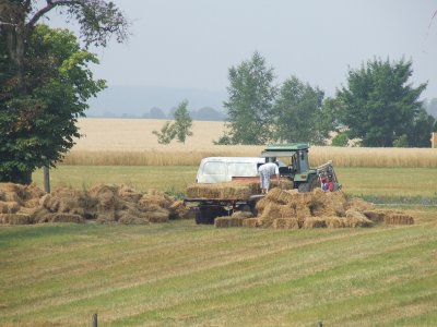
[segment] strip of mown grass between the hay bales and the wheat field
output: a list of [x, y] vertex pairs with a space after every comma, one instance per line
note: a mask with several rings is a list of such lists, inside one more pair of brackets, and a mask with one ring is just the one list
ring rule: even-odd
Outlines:
[[[50, 170], [51, 187], [90, 189], [102, 183], [127, 184], [139, 191], [184, 193], [196, 182], [194, 166], [59, 166]], [[346, 194], [357, 196], [437, 197], [435, 168], [336, 168]], [[43, 187], [43, 173], [33, 179]]]

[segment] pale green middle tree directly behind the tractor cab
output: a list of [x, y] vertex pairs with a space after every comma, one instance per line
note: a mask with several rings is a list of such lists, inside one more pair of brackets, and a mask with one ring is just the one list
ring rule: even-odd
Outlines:
[[332, 119], [322, 109], [324, 93], [296, 76], [286, 80], [274, 105], [275, 138], [281, 142], [323, 144]]

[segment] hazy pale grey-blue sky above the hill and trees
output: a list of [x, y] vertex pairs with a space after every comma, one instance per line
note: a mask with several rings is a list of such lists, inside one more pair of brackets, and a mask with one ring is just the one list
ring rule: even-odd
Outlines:
[[291, 75], [332, 96], [349, 68], [413, 61], [411, 82], [437, 98], [437, 1], [113, 0], [133, 22], [127, 45], [94, 49], [110, 85], [225, 92], [232, 65], [259, 51], [276, 83]]

